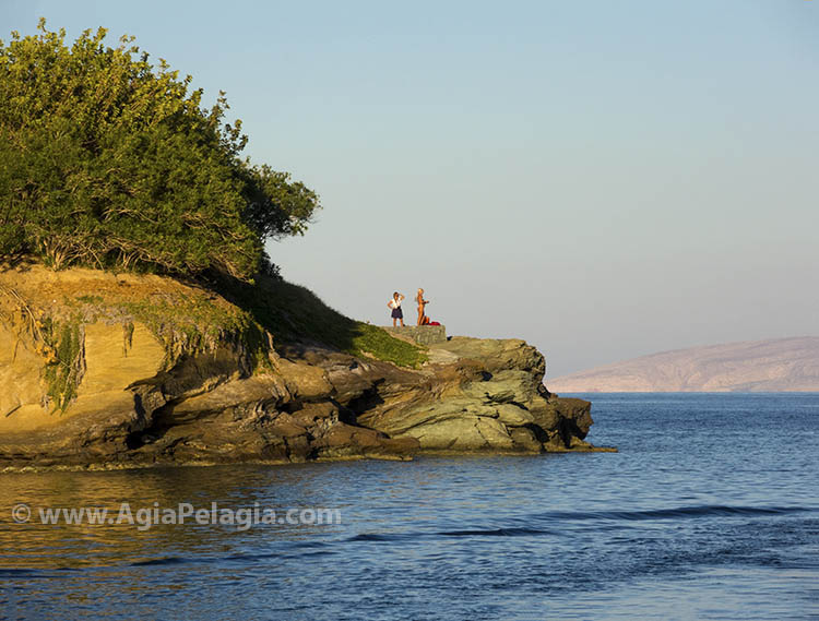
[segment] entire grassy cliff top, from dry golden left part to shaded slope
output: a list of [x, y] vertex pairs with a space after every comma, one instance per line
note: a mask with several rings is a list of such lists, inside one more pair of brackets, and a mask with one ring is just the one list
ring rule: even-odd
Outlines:
[[198, 283], [81, 270], [59, 278], [51, 274], [32, 264], [15, 274], [15, 289], [58, 323], [105, 318], [126, 327], [133, 321], [146, 324], [165, 345], [166, 367], [186, 353], [238, 345], [247, 368], [254, 369], [268, 360], [265, 331], [274, 348], [312, 342], [401, 367], [427, 360], [425, 347], [344, 317], [309, 289], [270, 276], [250, 284], [213, 274]]

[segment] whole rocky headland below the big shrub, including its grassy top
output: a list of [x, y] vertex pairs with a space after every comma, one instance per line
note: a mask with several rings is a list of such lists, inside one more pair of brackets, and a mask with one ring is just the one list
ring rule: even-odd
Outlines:
[[590, 404], [522, 341], [416, 348], [284, 283], [247, 292], [4, 268], [0, 468], [594, 450]]

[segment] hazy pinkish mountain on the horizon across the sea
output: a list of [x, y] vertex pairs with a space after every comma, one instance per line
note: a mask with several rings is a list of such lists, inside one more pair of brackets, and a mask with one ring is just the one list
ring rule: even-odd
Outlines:
[[555, 393], [819, 391], [819, 337], [663, 351], [547, 379], [546, 385]]

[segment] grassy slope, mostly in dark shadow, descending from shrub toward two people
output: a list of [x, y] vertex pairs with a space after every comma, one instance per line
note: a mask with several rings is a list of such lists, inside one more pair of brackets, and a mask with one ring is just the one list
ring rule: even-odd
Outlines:
[[273, 334], [276, 344], [313, 341], [356, 357], [371, 356], [400, 367], [417, 368], [427, 360], [425, 348], [341, 314], [306, 287], [261, 277], [252, 286], [232, 283], [221, 292], [250, 312]]

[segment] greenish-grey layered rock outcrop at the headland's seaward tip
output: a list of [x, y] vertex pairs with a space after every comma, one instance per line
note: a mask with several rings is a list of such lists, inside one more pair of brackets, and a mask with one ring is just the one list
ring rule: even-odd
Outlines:
[[549, 394], [545, 367], [523, 341], [453, 337], [430, 346], [426, 382], [376, 386], [357, 420], [424, 451], [590, 450], [591, 404]]

